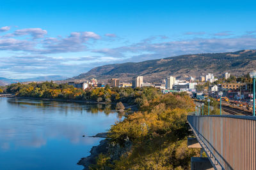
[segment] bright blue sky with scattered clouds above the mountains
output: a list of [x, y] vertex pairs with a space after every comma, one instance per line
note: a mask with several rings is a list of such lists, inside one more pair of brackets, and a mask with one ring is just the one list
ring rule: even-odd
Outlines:
[[1, 1], [0, 77], [256, 49], [256, 1]]

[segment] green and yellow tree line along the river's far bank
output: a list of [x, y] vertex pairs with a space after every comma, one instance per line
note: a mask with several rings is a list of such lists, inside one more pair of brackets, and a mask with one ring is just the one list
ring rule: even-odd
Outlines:
[[152, 96], [160, 94], [160, 90], [152, 87], [143, 89], [131, 87], [106, 87], [88, 88], [86, 90], [74, 88], [68, 84], [44, 83], [13, 83], [6, 88], [6, 92], [16, 94], [19, 97], [35, 97], [47, 99], [72, 99], [83, 101], [95, 101], [104, 103], [142, 104]]

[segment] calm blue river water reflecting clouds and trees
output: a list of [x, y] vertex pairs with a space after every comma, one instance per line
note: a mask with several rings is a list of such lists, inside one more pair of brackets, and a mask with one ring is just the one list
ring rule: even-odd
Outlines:
[[118, 120], [111, 107], [0, 97], [0, 169], [83, 169], [89, 155]]

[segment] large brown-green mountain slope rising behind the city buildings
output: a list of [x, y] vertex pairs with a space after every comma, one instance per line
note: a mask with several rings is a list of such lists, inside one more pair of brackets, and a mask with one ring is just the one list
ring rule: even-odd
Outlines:
[[87, 73], [79, 74], [72, 80], [89, 80], [97, 78], [106, 82], [109, 78], [119, 78], [120, 81], [131, 81], [133, 76], [144, 76], [145, 81], [160, 81], [172, 75], [178, 78], [200, 76], [214, 73], [222, 76], [228, 72], [239, 76], [256, 68], [256, 50], [241, 50], [225, 53], [198, 53], [179, 55], [164, 59], [146, 60], [143, 62], [126, 62], [95, 67]]

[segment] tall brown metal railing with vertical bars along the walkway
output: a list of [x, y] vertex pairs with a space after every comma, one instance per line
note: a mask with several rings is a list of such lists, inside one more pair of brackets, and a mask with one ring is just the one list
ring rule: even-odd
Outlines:
[[198, 141], [216, 169], [256, 169], [256, 118], [188, 116]]

